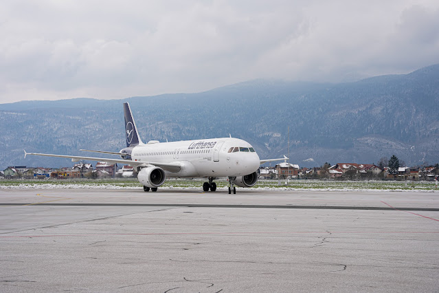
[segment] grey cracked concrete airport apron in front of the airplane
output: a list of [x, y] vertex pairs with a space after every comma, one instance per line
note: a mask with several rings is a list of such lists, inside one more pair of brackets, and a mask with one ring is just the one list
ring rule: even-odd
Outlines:
[[439, 193], [0, 190], [0, 292], [438, 292]]

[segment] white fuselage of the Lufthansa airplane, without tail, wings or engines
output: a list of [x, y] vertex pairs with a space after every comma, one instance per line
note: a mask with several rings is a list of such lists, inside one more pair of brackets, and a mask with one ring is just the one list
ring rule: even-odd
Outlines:
[[181, 169], [167, 177], [235, 177], [254, 173], [260, 158], [253, 147], [238, 138], [210, 138], [180, 142], [149, 142], [135, 146], [133, 161], [178, 163]]

